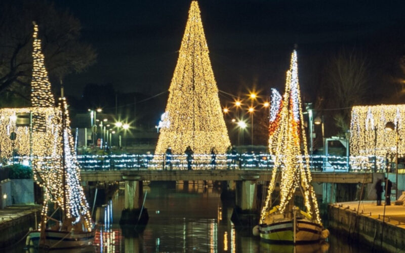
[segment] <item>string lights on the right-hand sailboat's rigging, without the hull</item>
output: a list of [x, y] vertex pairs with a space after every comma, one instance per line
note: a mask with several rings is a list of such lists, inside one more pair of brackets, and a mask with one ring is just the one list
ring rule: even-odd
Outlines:
[[[304, 195], [306, 212], [316, 223], [321, 224], [315, 192], [311, 185], [312, 178], [302, 118], [297, 52], [294, 50], [291, 55], [290, 69], [287, 71], [285, 94], [275, 119], [279, 120], [278, 127], [272, 130], [274, 136], [269, 142], [269, 150], [274, 159], [274, 168], [281, 171], [278, 212], [285, 214], [290, 199], [294, 197], [296, 189], [300, 187]], [[303, 142], [303, 151], [301, 150], [301, 142]], [[277, 169], [272, 170], [260, 223], [264, 222], [271, 207], [271, 194], [275, 188]]]

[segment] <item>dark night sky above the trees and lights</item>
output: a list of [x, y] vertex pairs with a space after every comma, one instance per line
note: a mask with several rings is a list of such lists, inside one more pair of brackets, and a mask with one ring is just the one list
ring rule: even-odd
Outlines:
[[[151, 96], [169, 89], [190, 1], [55, 2], [82, 22], [82, 39], [98, 53], [86, 72], [66, 77], [68, 94], [80, 96], [87, 83]], [[398, 64], [386, 59], [405, 53], [405, 5], [352, 2], [199, 1], [218, 88], [232, 94], [253, 86], [263, 93], [282, 89], [294, 44], [310, 99], [322, 85], [321, 68], [342, 47], [366, 55], [371, 68], [396, 73]], [[374, 93], [382, 81], [373, 78]]]

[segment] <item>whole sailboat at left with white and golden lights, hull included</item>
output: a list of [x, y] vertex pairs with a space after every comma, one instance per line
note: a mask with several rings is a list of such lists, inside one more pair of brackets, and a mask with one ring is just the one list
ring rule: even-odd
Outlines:
[[[80, 185], [79, 168], [72, 145], [73, 139], [64, 97], [60, 99], [58, 111], [61, 124], [56, 131], [56, 140], [60, 145], [57, 145], [56, 149], [59, 152], [56, 152], [57, 155], [49, 163], [50, 169], [47, 172], [36, 171], [39, 182], [45, 189], [45, 201], [41, 213], [41, 224], [37, 230], [31, 231], [26, 239], [27, 246], [56, 250], [92, 245], [96, 232]], [[61, 185], [58, 186], [58, 182]], [[52, 215], [48, 216], [50, 202], [57, 206], [53, 214], [58, 209], [61, 210], [61, 220], [52, 218]], [[53, 225], [49, 224], [51, 221]]]

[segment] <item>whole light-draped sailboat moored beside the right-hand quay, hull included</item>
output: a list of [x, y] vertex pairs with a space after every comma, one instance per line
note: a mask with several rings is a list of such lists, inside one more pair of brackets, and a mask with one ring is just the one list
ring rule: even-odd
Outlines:
[[[314, 243], [329, 236], [329, 231], [321, 223], [311, 185], [302, 118], [297, 52], [294, 50], [284, 96], [275, 89], [271, 95], [269, 150], [274, 169], [259, 225], [254, 228], [254, 234], [258, 233], [265, 242]], [[273, 205], [272, 193], [277, 180], [280, 180], [279, 204]], [[304, 209], [294, 205], [297, 191], [302, 194]]]

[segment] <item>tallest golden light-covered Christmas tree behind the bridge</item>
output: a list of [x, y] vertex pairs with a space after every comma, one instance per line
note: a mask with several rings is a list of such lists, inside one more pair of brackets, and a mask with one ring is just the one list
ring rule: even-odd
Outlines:
[[188, 12], [162, 121], [155, 154], [168, 147], [183, 154], [187, 146], [195, 154], [208, 154], [213, 147], [225, 153], [230, 145], [196, 1]]

